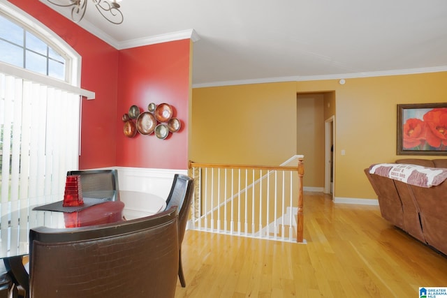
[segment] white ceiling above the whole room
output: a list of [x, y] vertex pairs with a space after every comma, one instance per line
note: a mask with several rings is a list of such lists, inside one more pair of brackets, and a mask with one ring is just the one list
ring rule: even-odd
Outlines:
[[122, 24], [105, 22], [89, 1], [80, 26], [118, 49], [195, 32], [195, 87], [447, 70], [446, 0], [120, 4]]

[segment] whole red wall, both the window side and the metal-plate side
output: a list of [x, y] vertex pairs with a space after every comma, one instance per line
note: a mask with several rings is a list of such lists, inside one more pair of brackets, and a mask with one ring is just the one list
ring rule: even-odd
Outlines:
[[[94, 91], [96, 98], [82, 100], [80, 169], [187, 168], [189, 40], [120, 52], [38, 0], [10, 3], [57, 33], [82, 57], [81, 87]], [[124, 137], [122, 114], [129, 104], [147, 109], [149, 101], [172, 104], [182, 131], [168, 140]]]

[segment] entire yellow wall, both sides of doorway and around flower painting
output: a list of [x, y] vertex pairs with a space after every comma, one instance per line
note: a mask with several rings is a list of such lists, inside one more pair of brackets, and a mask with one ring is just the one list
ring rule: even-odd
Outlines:
[[[190, 157], [278, 165], [300, 154], [297, 94], [335, 91], [335, 197], [376, 198], [365, 167], [397, 158], [432, 158], [397, 156], [397, 104], [447, 102], [446, 82], [447, 72], [441, 72], [346, 79], [344, 85], [318, 80], [196, 88]], [[312, 153], [305, 156], [305, 167], [307, 159]]]

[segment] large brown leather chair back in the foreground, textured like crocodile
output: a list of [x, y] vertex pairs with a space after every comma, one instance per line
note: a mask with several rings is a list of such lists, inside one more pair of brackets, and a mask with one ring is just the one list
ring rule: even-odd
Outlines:
[[30, 297], [174, 297], [177, 208], [122, 223], [29, 233]]

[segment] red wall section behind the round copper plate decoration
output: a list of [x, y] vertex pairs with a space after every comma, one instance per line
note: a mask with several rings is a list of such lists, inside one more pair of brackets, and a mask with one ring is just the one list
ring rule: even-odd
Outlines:
[[126, 137], [123, 122], [117, 126], [117, 165], [126, 167], [188, 168], [188, 102], [190, 40], [177, 40], [119, 52], [119, 119], [138, 105], [168, 103], [182, 126], [165, 140], [154, 134]]

